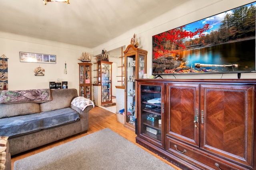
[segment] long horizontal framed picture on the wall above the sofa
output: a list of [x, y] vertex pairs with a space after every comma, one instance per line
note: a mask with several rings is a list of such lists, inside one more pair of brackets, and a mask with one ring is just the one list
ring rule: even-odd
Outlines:
[[56, 64], [56, 55], [20, 52], [20, 62]]

